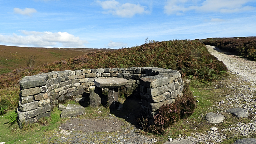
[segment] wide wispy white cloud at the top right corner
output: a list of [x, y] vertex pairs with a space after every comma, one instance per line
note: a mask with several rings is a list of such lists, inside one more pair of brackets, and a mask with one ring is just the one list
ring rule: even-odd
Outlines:
[[168, 0], [164, 7], [166, 14], [177, 14], [195, 10], [197, 12], [236, 13], [255, 10], [255, 7], [246, 3], [253, 0], [205, 0], [197, 3], [197, 0]]

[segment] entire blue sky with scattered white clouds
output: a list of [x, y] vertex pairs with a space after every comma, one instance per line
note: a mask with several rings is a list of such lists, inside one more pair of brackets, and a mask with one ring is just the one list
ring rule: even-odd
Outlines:
[[0, 45], [113, 48], [256, 36], [256, 0], [0, 0]]

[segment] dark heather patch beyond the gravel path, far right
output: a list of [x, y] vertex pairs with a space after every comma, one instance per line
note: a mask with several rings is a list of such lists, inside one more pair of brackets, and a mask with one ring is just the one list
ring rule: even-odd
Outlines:
[[201, 41], [206, 45], [217, 46], [226, 52], [256, 60], [256, 37], [209, 38]]

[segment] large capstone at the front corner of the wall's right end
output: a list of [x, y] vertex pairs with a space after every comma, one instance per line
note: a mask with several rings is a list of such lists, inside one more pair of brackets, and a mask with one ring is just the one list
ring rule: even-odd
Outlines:
[[169, 79], [164, 76], [146, 76], [140, 79], [140, 84], [147, 88], [156, 88], [163, 85], [167, 85], [169, 83]]

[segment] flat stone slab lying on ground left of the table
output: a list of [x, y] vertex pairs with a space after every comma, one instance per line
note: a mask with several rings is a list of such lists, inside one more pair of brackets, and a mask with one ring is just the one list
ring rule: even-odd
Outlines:
[[83, 106], [77, 104], [69, 104], [67, 109], [62, 111], [60, 118], [82, 115], [84, 112], [85, 109]]

